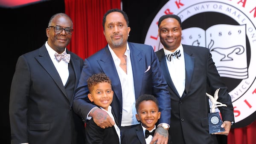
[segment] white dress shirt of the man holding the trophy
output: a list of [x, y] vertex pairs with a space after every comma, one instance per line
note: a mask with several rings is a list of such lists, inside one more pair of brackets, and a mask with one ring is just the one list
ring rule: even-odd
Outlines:
[[[179, 58], [172, 57], [171, 61], [169, 61], [166, 58], [166, 63], [169, 70], [169, 74], [172, 78], [172, 82], [175, 85], [175, 88], [177, 89], [181, 97], [185, 90], [185, 78], [186, 78], [184, 52], [181, 44], [177, 48], [177, 50], [180, 50], [181, 56]], [[173, 53], [164, 48], [163, 48], [163, 51], [164, 51], [164, 55]]]

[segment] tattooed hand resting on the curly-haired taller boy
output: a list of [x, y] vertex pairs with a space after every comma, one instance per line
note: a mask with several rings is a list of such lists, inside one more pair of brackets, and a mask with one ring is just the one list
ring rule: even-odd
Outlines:
[[102, 109], [93, 108], [90, 112], [90, 116], [93, 118], [93, 121], [102, 129], [112, 127], [115, 124], [115, 121]]

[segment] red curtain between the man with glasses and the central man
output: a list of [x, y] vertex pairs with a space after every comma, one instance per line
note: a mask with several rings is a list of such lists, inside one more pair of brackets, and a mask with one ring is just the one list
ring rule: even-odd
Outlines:
[[121, 0], [65, 0], [65, 13], [73, 20], [73, 35], [67, 49], [88, 58], [107, 45], [102, 18], [109, 9], [121, 9]]

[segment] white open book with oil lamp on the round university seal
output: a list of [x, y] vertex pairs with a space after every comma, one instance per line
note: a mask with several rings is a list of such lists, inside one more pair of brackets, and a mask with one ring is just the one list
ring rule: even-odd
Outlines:
[[248, 78], [246, 25], [218, 24], [182, 30], [183, 44], [207, 47], [221, 77]]

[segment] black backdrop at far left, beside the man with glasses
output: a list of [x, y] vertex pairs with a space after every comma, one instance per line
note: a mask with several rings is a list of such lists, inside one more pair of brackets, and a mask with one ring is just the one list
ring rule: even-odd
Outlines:
[[[10, 144], [9, 94], [17, 58], [39, 48], [47, 40], [49, 18], [65, 12], [64, 0], [50, 0], [16, 8], [0, 8], [1, 102], [0, 143]], [[3, 92], [3, 93], [2, 93]]]

